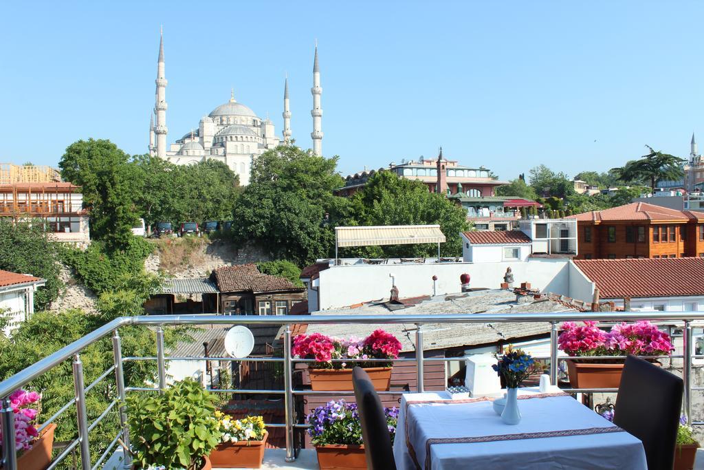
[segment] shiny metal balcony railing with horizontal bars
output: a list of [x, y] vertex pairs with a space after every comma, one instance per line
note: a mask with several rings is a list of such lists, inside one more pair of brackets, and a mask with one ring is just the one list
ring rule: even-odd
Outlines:
[[[282, 449], [267, 450], [267, 459], [269, 462], [274, 462], [278, 468], [291, 465], [292, 468], [317, 468], [314, 458], [311, 457], [310, 450], [303, 450], [301, 447], [305, 445], [303, 433], [307, 427], [303, 414], [301, 413], [301, 404], [303, 400], [311, 400], [313, 397], [352, 397], [353, 391], [348, 392], [326, 392], [313, 391], [301, 385], [301, 381], [296, 380], [296, 374], [300, 373], [301, 368], [305, 368], [306, 363], [310, 363], [312, 359], [297, 359], [291, 354], [292, 333], [296, 326], [301, 324], [325, 324], [325, 325], [363, 325], [369, 326], [370, 330], [383, 326], [384, 324], [403, 324], [406, 328], [409, 340], [415, 344], [415, 354], [399, 357], [394, 361], [394, 364], [401, 365], [403, 363], [414, 366], [415, 380], [411, 390], [391, 390], [389, 392], [379, 392], [380, 395], [389, 398], [393, 397], [398, 400], [398, 397], [406, 391], [424, 392], [428, 383], [425, 374], [429, 370], [429, 366], [442, 364], [446, 369], [446, 365], [451, 361], [461, 360], [462, 357], [446, 357], [445, 355], [427, 354], [427, 350], [432, 349], [432, 345], [424, 342], [425, 328], [451, 328], [453, 325], [461, 323], [484, 323], [488, 325], [501, 325], [503, 323], [540, 323], [549, 331], [549, 354], [545, 357], [536, 357], [543, 359], [546, 365], [549, 365], [549, 377], [552, 385], [559, 385], [563, 392], [567, 394], [590, 397], [596, 393], [617, 392], [617, 389], [597, 389], [597, 388], [570, 388], [564, 382], [560, 382], [562, 375], [562, 366], [560, 361], [565, 359], [558, 354], [558, 333], [560, 324], [564, 321], [600, 321], [606, 325], [619, 321], [650, 320], [657, 322], [660, 328], [670, 330], [673, 338], [681, 338], [681, 348], [678, 348], [669, 358], [665, 358], [667, 364], [663, 367], [681, 371], [681, 377], [684, 381], [684, 400], [683, 414], [689, 418], [689, 422], [693, 426], [704, 425], [703, 421], [697, 421], [695, 418], [701, 419], [701, 412], [698, 411], [696, 416], [693, 416], [693, 395], [699, 394], [704, 387], [698, 386], [695, 380], [693, 363], [702, 361], [704, 354], [697, 351], [694, 354], [695, 334], [694, 328], [701, 328], [704, 325], [704, 313], [697, 312], [570, 312], [570, 313], [549, 313], [549, 314], [382, 314], [382, 315], [321, 315], [321, 316], [222, 316], [222, 315], [187, 315], [187, 316], [132, 316], [122, 317], [110, 321], [92, 333], [70, 343], [61, 350], [50, 354], [41, 361], [27, 367], [26, 369], [15, 373], [15, 375], [6, 378], [0, 382], [0, 398], [2, 407], [0, 408], [0, 423], [3, 435], [3, 455], [2, 464], [4, 469], [18, 469], [17, 455], [13, 451], [14, 448], [14, 429], [15, 429], [15, 414], [11, 408], [9, 396], [15, 390], [25, 386], [32, 387], [32, 382], [37, 381], [44, 374], [53, 371], [56, 368], [67, 367], [71, 364], [73, 371], [73, 385], [75, 389], [75, 398], [64, 404], [58, 409], [53, 416], [44, 420], [42, 428], [50, 423], [56, 422], [61, 416], [69, 416], [70, 423], [75, 423], [75, 432], [73, 438], [68, 442], [63, 443], [60, 449], [54, 447], [54, 459], [49, 466], [49, 469], [54, 468], [80, 468], [82, 470], [103, 468], [131, 468], [130, 454], [127, 450], [130, 448], [130, 442], [136, 436], [130, 435], [130, 409], [128, 409], [125, 399], [133, 394], [151, 394], [159, 393], [161, 390], [168, 388], [168, 363], [178, 361], [206, 361], [207, 363], [220, 361], [226, 363], [237, 363], [246, 361], [248, 363], [273, 363], [277, 367], [282, 368], [282, 384], [281, 388], [277, 389], [256, 389], [256, 388], [213, 388], [213, 383], [206, 383], [206, 388], [210, 391], [224, 395], [225, 397], [237, 394], [239, 396], [259, 396], [259, 397], [278, 397], [282, 404], [283, 412], [282, 419], [277, 422], [266, 423], [270, 430], [278, 429], [282, 433]], [[218, 325], [218, 326], [256, 326], [256, 325], [276, 325], [282, 329], [282, 354], [280, 357], [211, 357], [211, 356], [194, 356], [194, 357], [169, 357], [165, 347], [165, 330], [168, 328], [176, 328], [179, 326], [202, 326], [202, 325]], [[149, 328], [153, 332], [156, 342], [156, 356], [154, 357], [123, 357], [122, 338], [120, 332], [125, 332], [127, 328]], [[90, 383], [84, 380], [84, 364], [82, 362], [82, 354], [87, 348], [96, 345], [99, 342], [111, 342], [112, 345], [112, 362], [113, 365], [96, 376]], [[107, 346], [107, 345], [105, 345]], [[581, 357], [585, 361], [605, 359], [604, 357]], [[607, 358], [608, 359], [608, 358]], [[662, 359], [662, 357], [660, 357]], [[335, 359], [334, 359], [335, 360]], [[383, 360], [383, 359], [379, 359]], [[130, 386], [125, 383], [125, 367], [134, 366], [134, 364], [143, 363], [143, 361], [151, 361], [156, 363], [156, 376], [153, 377], [153, 383], [143, 383], [139, 386]], [[370, 359], [365, 359], [370, 361]], [[279, 369], [281, 370], [281, 369]], [[107, 386], [101, 386], [107, 385]], [[109, 404], [105, 409], [96, 410], [87, 407], [87, 399], [93, 393], [102, 392], [109, 397]], [[106, 439], [104, 436], [96, 436], [96, 431], [100, 423], [108, 419], [116, 419], [119, 421], [119, 429], [115, 435], [109, 436]], [[75, 420], [75, 421], [74, 421]], [[100, 452], [91, 452], [91, 443], [95, 440], [102, 439]], [[120, 456], [119, 458], [117, 456]], [[278, 462], [276, 462], [278, 459]], [[107, 464], [107, 465], [106, 465]], [[305, 466], [301, 466], [305, 465]]]

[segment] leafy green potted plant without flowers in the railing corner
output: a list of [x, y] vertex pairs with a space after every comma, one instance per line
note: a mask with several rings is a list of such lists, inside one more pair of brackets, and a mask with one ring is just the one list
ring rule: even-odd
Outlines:
[[215, 396], [192, 378], [163, 393], [127, 400], [135, 469], [209, 470], [208, 455], [220, 443]]

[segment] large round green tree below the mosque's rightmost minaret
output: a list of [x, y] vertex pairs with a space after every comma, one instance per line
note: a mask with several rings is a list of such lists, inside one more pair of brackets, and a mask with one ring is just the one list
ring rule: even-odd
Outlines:
[[249, 185], [234, 207], [234, 240], [252, 240], [299, 266], [329, 256], [334, 224], [348, 206], [346, 199], [333, 194], [344, 185], [336, 167], [337, 157], [316, 156], [290, 145], [258, 156]]

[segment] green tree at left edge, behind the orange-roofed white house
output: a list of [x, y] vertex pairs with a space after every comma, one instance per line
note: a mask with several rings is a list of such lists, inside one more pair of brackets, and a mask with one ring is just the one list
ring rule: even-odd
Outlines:
[[44, 221], [12, 223], [0, 218], [0, 269], [46, 279], [34, 294], [36, 311], [49, 308], [58, 297], [62, 283], [57, 261], [57, 246], [49, 240]]

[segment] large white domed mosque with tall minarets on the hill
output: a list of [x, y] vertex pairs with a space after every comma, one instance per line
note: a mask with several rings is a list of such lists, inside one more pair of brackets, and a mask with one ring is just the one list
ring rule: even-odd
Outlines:
[[[164, 73], [164, 38], [161, 35], [156, 75], [156, 105], [149, 123], [149, 154], [177, 165], [192, 165], [206, 159], [218, 160], [239, 175], [239, 183], [249, 183], [249, 171], [257, 156], [280, 143], [291, 141], [291, 111], [289, 110], [289, 82], [284, 82], [284, 131], [282, 139], [275, 134], [274, 124], [269, 118], [261, 119], [248, 106], [234, 99], [234, 89], [227, 101], [203, 116], [197, 130], [191, 130], [168, 148], [166, 145], [166, 85]], [[315, 45], [313, 60], [313, 151], [322, 155], [322, 109], [320, 98], [320, 70], [318, 68], [318, 45]], [[154, 123], [156, 117], [156, 124]]]

